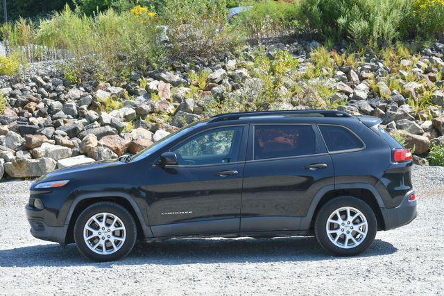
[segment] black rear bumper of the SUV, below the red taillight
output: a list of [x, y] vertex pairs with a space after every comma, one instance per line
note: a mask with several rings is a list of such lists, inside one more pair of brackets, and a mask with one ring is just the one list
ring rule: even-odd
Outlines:
[[410, 201], [409, 197], [414, 192], [409, 191], [402, 199], [398, 207], [392, 209], [381, 208], [382, 216], [384, 217], [385, 230], [395, 229], [411, 223], [416, 218], [417, 201]]

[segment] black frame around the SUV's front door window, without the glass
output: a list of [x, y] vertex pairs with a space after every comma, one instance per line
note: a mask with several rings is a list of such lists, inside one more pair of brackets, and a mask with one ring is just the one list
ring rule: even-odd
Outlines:
[[[160, 155], [162, 155], [162, 153], [173, 150], [174, 148], [179, 146], [181, 143], [183, 143], [183, 142], [185, 142], [185, 141], [187, 141], [187, 140], [197, 136], [198, 134], [201, 134], [203, 132], [208, 132], [210, 130], [216, 130], [216, 129], [219, 129], [219, 128], [231, 128], [231, 127], [236, 127], [236, 126], [240, 126], [241, 128], [243, 128], [243, 130], [242, 130], [242, 139], [241, 139], [241, 144], [239, 146], [239, 155], [238, 155], [238, 156], [241, 157], [241, 152], [242, 152], [242, 149], [243, 149], [242, 146], [243, 145], [246, 146], [246, 140], [244, 139], [244, 135], [246, 133], [248, 134], [248, 125], [246, 125], [246, 124], [218, 125], [218, 126], [214, 126], [212, 128], [206, 128], [206, 129], [200, 130], [198, 132], [195, 132], [194, 134], [191, 134], [189, 137], [186, 137], [185, 139], [182, 139], [178, 143], [174, 144], [170, 148], [160, 152], [160, 154], [155, 158], [155, 161], [153, 162], [153, 166], [160, 166], [159, 164], [157, 164], [157, 161], [158, 161]], [[198, 168], [198, 167], [202, 167], [202, 166], [226, 166], [226, 165], [229, 165], [229, 164], [244, 164], [245, 160], [246, 160], [245, 159], [245, 155], [244, 155], [244, 157], [241, 157], [241, 158], [243, 158], [244, 160], [240, 160], [238, 162], [227, 162], [225, 164], [196, 164], [196, 165], [194, 165], [194, 164], [176, 164], [176, 165], [169, 164], [169, 165], [162, 166], [162, 167], [164, 167], [164, 168]]]

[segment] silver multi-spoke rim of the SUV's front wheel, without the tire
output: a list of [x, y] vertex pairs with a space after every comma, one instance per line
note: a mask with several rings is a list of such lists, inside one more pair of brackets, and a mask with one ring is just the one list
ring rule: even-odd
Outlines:
[[125, 225], [114, 214], [95, 214], [85, 224], [83, 238], [92, 252], [101, 255], [113, 254], [125, 243]]

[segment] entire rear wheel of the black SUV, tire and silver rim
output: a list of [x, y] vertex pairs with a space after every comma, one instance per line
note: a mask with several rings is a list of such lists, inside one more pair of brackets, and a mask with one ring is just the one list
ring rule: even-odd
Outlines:
[[330, 200], [321, 207], [314, 223], [318, 242], [336, 256], [353, 256], [373, 243], [377, 220], [366, 202], [351, 196]]

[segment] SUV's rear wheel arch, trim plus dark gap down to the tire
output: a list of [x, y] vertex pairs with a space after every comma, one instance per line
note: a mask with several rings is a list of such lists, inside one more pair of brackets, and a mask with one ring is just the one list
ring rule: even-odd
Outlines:
[[381, 211], [381, 208], [385, 207], [384, 201], [375, 186], [366, 183], [336, 184], [323, 187], [311, 200], [307, 216], [300, 223], [300, 229], [313, 229], [319, 209], [332, 198], [339, 196], [352, 196], [366, 202], [375, 213], [378, 230], [385, 229], [384, 216]]

